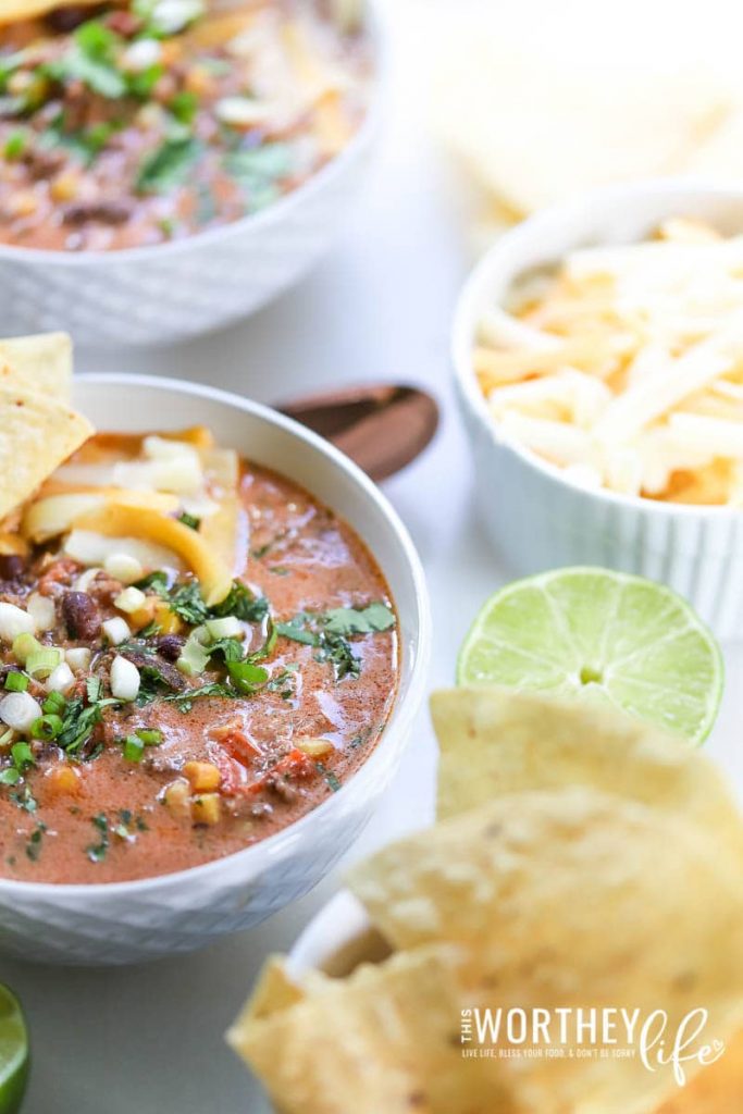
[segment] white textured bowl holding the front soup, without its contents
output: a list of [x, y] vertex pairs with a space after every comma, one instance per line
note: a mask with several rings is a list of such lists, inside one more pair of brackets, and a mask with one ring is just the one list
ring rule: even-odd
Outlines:
[[426, 579], [377, 486], [327, 442], [274, 411], [207, 387], [136, 375], [80, 377], [75, 403], [100, 430], [208, 426], [217, 440], [331, 507], [368, 545], [394, 600], [399, 692], [377, 747], [336, 793], [275, 836], [202, 867], [140, 881], [0, 879], [0, 949], [62, 964], [129, 964], [203, 947], [306, 893], [359, 836], [397, 770], [422, 701], [430, 649]]

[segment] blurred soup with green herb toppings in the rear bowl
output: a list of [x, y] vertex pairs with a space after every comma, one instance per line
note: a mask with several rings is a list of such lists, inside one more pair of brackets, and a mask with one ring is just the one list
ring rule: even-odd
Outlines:
[[0, 243], [114, 251], [237, 221], [312, 177], [365, 116], [355, 3], [10, 8]]

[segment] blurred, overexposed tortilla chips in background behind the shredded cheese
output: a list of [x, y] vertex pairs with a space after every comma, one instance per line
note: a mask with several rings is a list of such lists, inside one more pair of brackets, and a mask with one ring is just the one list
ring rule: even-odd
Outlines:
[[578, 37], [549, 4], [478, 6], [472, 18], [442, 20], [424, 51], [444, 140], [519, 216], [593, 187], [683, 173], [735, 109], [733, 85], [693, 52], [623, 50], [619, 22], [629, 31], [633, 21], [607, 36], [597, 7], [581, 8], [571, 12]]

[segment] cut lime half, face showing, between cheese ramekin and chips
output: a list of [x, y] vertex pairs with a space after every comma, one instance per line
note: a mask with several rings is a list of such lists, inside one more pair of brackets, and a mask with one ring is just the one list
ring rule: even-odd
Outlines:
[[459, 652], [457, 682], [612, 703], [701, 743], [720, 706], [723, 662], [669, 588], [609, 569], [563, 568], [490, 597]]

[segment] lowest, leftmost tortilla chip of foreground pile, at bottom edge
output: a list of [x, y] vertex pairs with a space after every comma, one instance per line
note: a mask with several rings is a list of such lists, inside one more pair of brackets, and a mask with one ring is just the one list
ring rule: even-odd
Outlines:
[[508, 1114], [461, 1057], [459, 964], [450, 947], [397, 955], [227, 1039], [285, 1114]]

